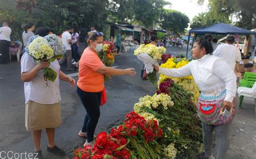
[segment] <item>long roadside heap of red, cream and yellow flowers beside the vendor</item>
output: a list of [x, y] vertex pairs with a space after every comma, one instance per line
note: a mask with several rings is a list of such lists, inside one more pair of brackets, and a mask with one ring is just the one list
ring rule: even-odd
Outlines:
[[[156, 51], [156, 47], [145, 47], [150, 46], [141, 46], [136, 54]], [[171, 55], [161, 57], [166, 61], [163, 68], [178, 69], [189, 63]], [[77, 149], [76, 158], [196, 158], [203, 133], [196, 115], [199, 90], [193, 77], [160, 75], [157, 89], [134, 104], [134, 112], [126, 114], [123, 125], [112, 128], [110, 134], [100, 133], [93, 147]]]

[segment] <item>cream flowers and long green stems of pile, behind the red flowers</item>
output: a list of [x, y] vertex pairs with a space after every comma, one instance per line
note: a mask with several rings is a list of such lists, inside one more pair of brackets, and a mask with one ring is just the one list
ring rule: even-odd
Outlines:
[[144, 96], [134, 104], [134, 111], [148, 120], [156, 120], [163, 127], [164, 154], [170, 158], [195, 156], [201, 142], [196, 107], [182, 86], [172, 79], [161, 82], [153, 96]]

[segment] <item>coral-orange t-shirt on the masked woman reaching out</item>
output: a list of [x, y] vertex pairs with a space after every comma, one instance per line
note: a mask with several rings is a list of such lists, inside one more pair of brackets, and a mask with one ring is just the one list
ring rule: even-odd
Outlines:
[[96, 71], [104, 66], [97, 53], [87, 47], [79, 61], [77, 86], [85, 92], [100, 92], [104, 88], [104, 76]]

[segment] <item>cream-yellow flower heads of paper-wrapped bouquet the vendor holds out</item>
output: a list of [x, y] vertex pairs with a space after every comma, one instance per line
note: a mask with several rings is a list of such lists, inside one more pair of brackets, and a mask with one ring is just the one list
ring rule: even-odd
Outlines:
[[140, 45], [138, 49], [134, 50], [134, 55], [139, 55], [143, 53], [149, 54], [154, 60], [161, 60], [161, 56], [166, 52], [165, 47], [157, 47], [152, 44]]

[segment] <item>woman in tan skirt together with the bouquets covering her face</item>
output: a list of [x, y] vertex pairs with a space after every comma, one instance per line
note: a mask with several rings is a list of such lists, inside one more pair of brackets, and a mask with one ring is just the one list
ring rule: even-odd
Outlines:
[[[49, 32], [47, 27], [38, 28], [36, 35], [29, 39], [21, 59], [26, 104], [25, 126], [32, 133], [38, 158], [43, 158], [40, 146], [42, 129], [45, 129], [48, 136], [47, 150], [65, 156], [65, 152], [55, 146], [54, 142], [55, 128], [61, 123], [59, 80], [75, 85], [75, 79], [65, 75], [54, 59], [63, 52], [62, 41], [56, 35], [48, 35]], [[43, 60], [40, 56], [43, 56]], [[45, 70], [51, 70], [52, 76], [46, 74]]]

